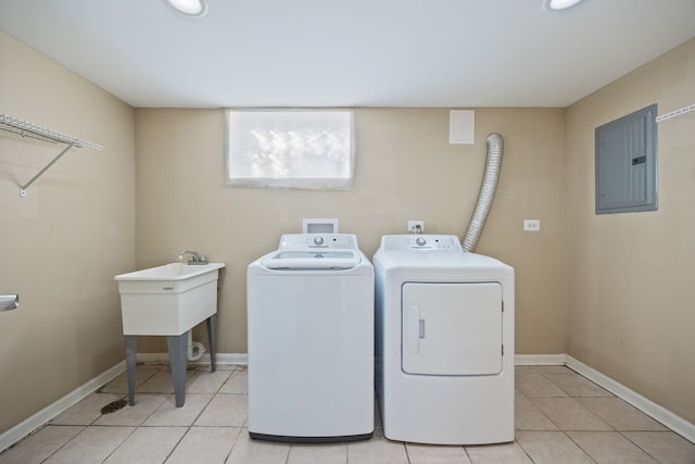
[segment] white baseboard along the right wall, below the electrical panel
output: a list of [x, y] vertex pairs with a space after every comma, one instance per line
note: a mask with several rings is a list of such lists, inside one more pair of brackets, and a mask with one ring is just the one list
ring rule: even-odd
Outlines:
[[642, 394], [634, 390], [629, 389], [622, 384], [617, 383], [612, 378], [599, 373], [598, 371], [589, 367], [586, 364], [567, 355], [567, 367], [576, 371], [582, 376], [586, 377], [594, 384], [610, 391], [616, 397], [632, 404], [643, 413], [652, 416], [655, 421], [660, 422], [674, 432], [679, 434], [686, 440], [695, 443], [695, 425], [685, 421], [684, 418], [673, 414], [671, 411], [664, 406], [658, 405], [652, 400], [644, 398]]

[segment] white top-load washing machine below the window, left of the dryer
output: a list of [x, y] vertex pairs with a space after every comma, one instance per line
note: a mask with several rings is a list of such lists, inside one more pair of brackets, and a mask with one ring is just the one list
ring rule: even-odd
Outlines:
[[374, 431], [374, 267], [351, 234], [289, 234], [248, 267], [249, 434]]

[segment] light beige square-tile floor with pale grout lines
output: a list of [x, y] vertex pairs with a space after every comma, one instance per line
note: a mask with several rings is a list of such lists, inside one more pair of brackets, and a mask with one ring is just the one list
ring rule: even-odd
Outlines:
[[247, 369], [188, 372], [186, 404], [175, 407], [165, 365], [137, 369], [135, 406], [101, 407], [126, 397], [125, 373], [0, 454], [9, 463], [695, 463], [695, 444], [563, 366], [516, 368], [516, 441], [435, 447], [375, 437], [333, 444], [249, 438]]

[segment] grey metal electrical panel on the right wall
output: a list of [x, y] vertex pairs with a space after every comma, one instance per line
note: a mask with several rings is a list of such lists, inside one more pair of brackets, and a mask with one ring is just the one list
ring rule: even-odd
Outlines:
[[596, 127], [596, 214], [657, 209], [656, 111]]

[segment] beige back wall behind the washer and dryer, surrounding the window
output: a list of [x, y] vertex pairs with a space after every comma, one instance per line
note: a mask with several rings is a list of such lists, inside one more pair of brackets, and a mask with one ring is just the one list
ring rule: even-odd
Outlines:
[[[350, 191], [225, 186], [220, 110], [137, 110], [136, 120], [137, 266], [175, 261], [182, 249], [227, 263], [219, 352], [247, 351], [247, 266], [282, 233], [301, 231], [303, 217], [338, 217], [369, 256], [408, 220], [463, 236], [491, 131], [505, 137], [505, 159], [478, 251], [516, 268], [518, 352], [566, 351], [565, 110], [477, 110], [476, 145], [454, 146], [448, 110], [358, 109]], [[541, 233], [523, 233], [523, 218], [541, 220]], [[206, 342], [204, 331], [197, 336]], [[143, 340], [141, 349], [165, 343]]]

